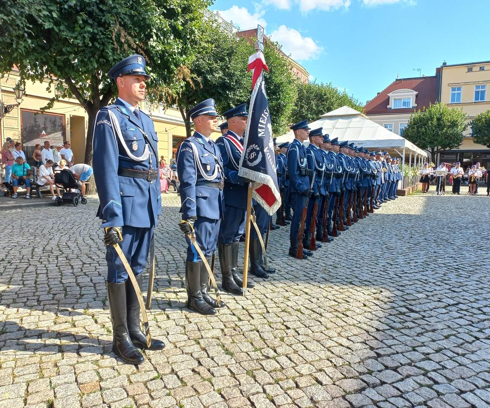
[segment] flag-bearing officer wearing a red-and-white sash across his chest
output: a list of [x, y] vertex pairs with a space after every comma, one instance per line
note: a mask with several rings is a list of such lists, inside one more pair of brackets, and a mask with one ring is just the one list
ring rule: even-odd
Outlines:
[[[218, 254], [224, 291], [242, 295], [242, 278], [238, 274], [238, 250], [240, 238], [245, 232], [245, 211], [248, 183], [238, 175], [240, 157], [244, 151], [244, 138], [248, 112], [242, 103], [223, 113], [228, 131], [216, 140], [223, 158], [225, 172], [225, 211], [218, 235]], [[247, 282], [248, 288], [254, 284]]]

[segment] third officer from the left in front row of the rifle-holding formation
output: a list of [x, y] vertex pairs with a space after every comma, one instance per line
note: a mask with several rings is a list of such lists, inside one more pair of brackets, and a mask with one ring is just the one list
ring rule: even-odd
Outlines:
[[[330, 195], [334, 194], [336, 191], [335, 187], [335, 160], [329, 154], [332, 147], [332, 142], [330, 141], [330, 136], [328, 134], [323, 135], [323, 142], [320, 145], [320, 152], [323, 154], [323, 162], [325, 163], [325, 173], [323, 176], [323, 183], [325, 189], [325, 196], [321, 200], [321, 205], [318, 206], [318, 217], [316, 219], [316, 240], [320, 241], [323, 238], [323, 217], [326, 216], [325, 225], [327, 227], [327, 239], [325, 242], [333, 241], [333, 238], [328, 233], [328, 204], [330, 200]], [[335, 154], [335, 153], [333, 153]], [[326, 211], [325, 211], [326, 207]], [[331, 227], [330, 227], [331, 229]]]

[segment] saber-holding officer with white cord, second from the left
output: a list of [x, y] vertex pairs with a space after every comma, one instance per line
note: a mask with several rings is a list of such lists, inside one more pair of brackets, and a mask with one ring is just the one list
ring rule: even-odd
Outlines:
[[[196, 234], [196, 243], [210, 263], [216, 249], [219, 224], [223, 218], [223, 162], [218, 146], [210, 135], [217, 131], [215, 102], [207, 99], [189, 110], [196, 131], [185, 139], [177, 152], [177, 174], [180, 181], [179, 228], [184, 234]], [[215, 314], [218, 305], [210, 297], [210, 279], [206, 267], [191, 240], [187, 240], [185, 284], [187, 307], [201, 314]]]

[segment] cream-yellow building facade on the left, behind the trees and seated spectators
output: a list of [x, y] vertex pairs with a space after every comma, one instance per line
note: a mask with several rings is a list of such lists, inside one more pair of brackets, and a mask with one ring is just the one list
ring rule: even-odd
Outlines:
[[[0, 101], [4, 104], [15, 104], [13, 88], [19, 81], [19, 73], [12, 70], [0, 79]], [[14, 107], [0, 120], [1, 143], [7, 137], [23, 144], [23, 149], [31, 161], [35, 143], [48, 140], [51, 145], [69, 140], [75, 163], [83, 163], [85, 157], [88, 115], [75, 99], [61, 99], [54, 102], [51, 109], [42, 112], [51, 98], [56, 95], [59, 81], [49, 84], [46, 79], [42, 83], [27, 82], [25, 94], [19, 106]], [[161, 104], [142, 102], [140, 108], [147, 113], [155, 125], [158, 135], [158, 152], [169, 159], [178, 144], [185, 139], [185, 125], [178, 109], [165, 109]], [[215, 139], [219, 133], [213, 134]]]

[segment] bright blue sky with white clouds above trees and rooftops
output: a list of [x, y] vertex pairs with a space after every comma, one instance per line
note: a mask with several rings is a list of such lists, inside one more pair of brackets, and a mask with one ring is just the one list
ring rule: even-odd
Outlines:
[[434, 75], [448, 65], [490, 60], [486, 0], [216, 0], [210, 7], [241, 30], [266, 35], [317, 82], [361, 103], [397, 76]]

